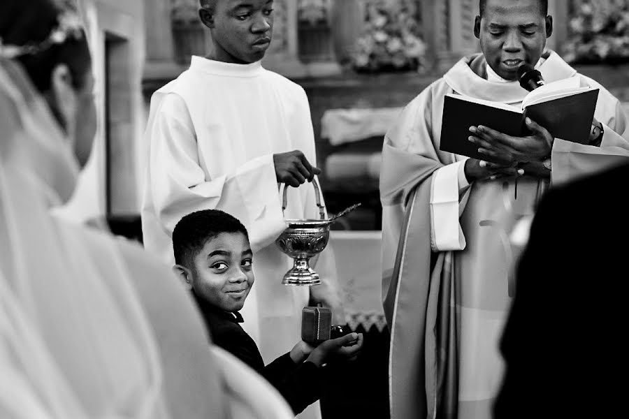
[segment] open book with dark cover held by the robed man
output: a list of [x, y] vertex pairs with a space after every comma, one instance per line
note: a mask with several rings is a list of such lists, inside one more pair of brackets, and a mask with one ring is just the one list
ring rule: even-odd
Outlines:
[[529, 117], [554, 138], [587, 144], [596, 108], [598, 89], [579, 87], [573, 77], [544, 84], [527, 94], [520, 108], [459, 94], [444, 98], [440, 149], [479, 160], [478, 146], [468, 140], [470, 126], [488, 126], [507, 135], [529, 135], [524, 119]]

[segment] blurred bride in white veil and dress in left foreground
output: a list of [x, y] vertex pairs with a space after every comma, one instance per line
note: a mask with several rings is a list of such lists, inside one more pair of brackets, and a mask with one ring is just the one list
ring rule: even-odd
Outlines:
[[50, 216], [95, 128], [74, 10], [3, 0], [0, 39], [0, 417], [289, 418], [261, 378], [209, 353], [168, 267]]

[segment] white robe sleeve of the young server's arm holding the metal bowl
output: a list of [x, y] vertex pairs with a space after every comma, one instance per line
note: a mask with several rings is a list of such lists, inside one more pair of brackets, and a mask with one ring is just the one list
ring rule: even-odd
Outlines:
[[[226, 125], [242, 123], [226, 121]], [[161, 101], [151, 138], [152, 198], [157, 219], [168, 235], [183, 216], [208, 208], [228, 212], [245, 223], [254, 252], [271, 244], [285, 228], [273, 154], [256, 156], [208, 178], [201, 167], [187, 105], [174, 93]]]

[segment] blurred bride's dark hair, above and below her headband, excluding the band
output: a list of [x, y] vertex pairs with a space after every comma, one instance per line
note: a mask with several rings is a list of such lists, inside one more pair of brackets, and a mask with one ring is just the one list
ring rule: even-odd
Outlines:
[[[73, 10], [76, 11], [76, 10]], [[6, 45], [37, 45], [59, 26], [63, 10], [51, 0], [0, 1], [0, 38]], [[68, 36], [66, 41], [50, 45], [40, 52], [17, 57], [29, 78], [42, 93], [50, 89], [50, 76], [58, 64], [66, 64], [73, 87], [82, 89], [92, 66], [87, 38]]]

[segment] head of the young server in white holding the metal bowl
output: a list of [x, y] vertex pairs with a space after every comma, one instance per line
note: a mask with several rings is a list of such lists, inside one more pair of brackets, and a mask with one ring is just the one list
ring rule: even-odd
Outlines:
[[205, 0], [199, 10], [210, 28], [210, 58], [250, 64], [264, 57], [273, 36], [273, 0]]

